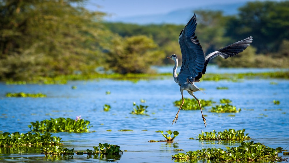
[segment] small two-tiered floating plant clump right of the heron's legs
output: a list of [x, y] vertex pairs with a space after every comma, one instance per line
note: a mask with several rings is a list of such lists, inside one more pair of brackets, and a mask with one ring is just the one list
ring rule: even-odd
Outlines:
[[241, 111], [240, 108], [236, 108], [236, 106], [230, 105], [232, 103], [229, 99], [221, 99], [220, 105], [213, 106], [211, 112], [213, 113], [238, 113]]

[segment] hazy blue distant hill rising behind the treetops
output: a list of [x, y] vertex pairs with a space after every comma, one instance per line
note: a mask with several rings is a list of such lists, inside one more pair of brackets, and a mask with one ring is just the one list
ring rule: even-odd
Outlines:
[[135, 23], [135, 24], [186, 24], [192, 17], [194, 10], [221, 10], [224, 15], [238, 14], [238, 8], [245, 5], [246, 2], [230, 3], [226, 5], [207, 5], [201, 8], [184, 8], [181, 10], [175, 10], [166, 14], [153, 14], [153, 15], [140, 15], [130, 17], [120, 17], [107, 20], [109, 22], [123, 22], [123, 23]]

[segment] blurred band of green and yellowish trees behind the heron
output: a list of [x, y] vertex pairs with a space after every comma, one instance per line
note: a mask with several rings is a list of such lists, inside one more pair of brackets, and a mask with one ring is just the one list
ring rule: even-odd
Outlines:
[[[107, 23], [105, 13], [90, 12], [86, 0], [3, 0], [0, 3], [0, 80], [34, 80], [39, 76], [106, 70], [150, 73], [151, 65], [171, 63], [184, 25]], [[196, 35], [206, 54], [253, 36], [241, 55], [212, 62], [223, 67], [289, 66], [289, 1], [254, 1], [239, 14], [192, 11]]]

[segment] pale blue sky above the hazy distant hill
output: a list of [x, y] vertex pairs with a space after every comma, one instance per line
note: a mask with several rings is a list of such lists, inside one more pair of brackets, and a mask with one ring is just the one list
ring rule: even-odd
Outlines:
[[[165, 14], [174, 10], [204, 5], [255, 0], [88, 0], [86, 8], [111, 14], [112, 18]], [[279, 1], [279, 0], [276, 0]]]

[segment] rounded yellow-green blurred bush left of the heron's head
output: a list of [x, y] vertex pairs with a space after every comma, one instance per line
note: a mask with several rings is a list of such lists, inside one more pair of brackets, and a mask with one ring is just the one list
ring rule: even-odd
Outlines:
[[107, 69], [120, 74], [147, 73], [152, 64], [157, 64], [165, 57], [157, 48], [153, 39], [144, 35], [125, 38], [115, 36], [105, 57]]

